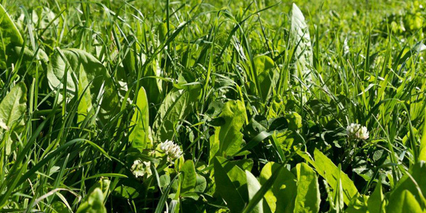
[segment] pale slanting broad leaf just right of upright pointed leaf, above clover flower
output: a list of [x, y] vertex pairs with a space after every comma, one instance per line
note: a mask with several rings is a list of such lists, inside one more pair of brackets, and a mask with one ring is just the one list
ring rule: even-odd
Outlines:
[[175, 133], [175, 122], [185, 119], [200, 95], [200, 88], [173, 88], [163, 100], [155, 116], [153, 131], [157, 141], [170, 140]]

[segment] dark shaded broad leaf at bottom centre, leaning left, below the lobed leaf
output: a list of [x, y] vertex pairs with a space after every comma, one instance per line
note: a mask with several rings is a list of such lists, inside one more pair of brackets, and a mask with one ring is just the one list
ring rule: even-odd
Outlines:
[[245, 206], [243, 197], [237, 190], [236, 185], [226, 174], [226, 170], [222, 167], [222, 163], [214, 158], [214, 182], [216, 183], [216, 192], [225, 200], [226, 206], [231, 212], [240, 212]]

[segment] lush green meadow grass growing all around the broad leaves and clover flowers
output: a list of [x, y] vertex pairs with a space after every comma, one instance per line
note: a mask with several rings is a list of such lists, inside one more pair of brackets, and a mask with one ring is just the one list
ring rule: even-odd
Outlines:
[[[75, 211], [99, 180], [110, 181], [104, 194], [109, 212], [163, 212], [165, 204], [180, 212], [226, 209], [229, 203], [215, 192], [210, 143], [216, 126], [225, 122], [222, 105], [230, 100], [244, 104], [241, 132], [247, 147], [241, 145], [244, 155], [224, 157], [253, 160], [249, 172], [256, 177], [268, 162], [294, 168], [306, 162], [297, 151], [313, 155], [318, 149], [340, 165], [361, 194], [371, 195], [378, 183], [383, 192], [393, 190], [420, 158], [426, 107], [425, 12], [420, 5], [426, 2], [295, 2], [310, 31], [312, 81], [294, 69], [300, 43], [291, 32], [289, 2], [0, 2], [31, 50], [30, 57], [23, 51], [9, 56], [10, 66], [0, 69], [0, 100], [18, 82], [28, 88], [26, 113], [13, 131], [0, 132], [0, 212], [59, 212], [62, 205]], [[89, 73], [92, 67], [74, 70], [66, 48], [93, 55], [106, 68], [109, 82], [97, 76], [83, 84], [75, 73]], [[62, 86], [53, 85], [46, 74], [53, 55], [71, 73]], [[272, 59], [275, 84], [262, 83], [266, 77], [256, 62], [259, 55]], [[79, 88], [63, 89], [65, 82]], [[98, 83], [94, 91], [92, 84]], [[143, 180], [131, 173], [137, 151], [129, 141], [137, 128], [132, 117], [140, 107], [141, 87], [152, 145], [138, 158], [155, 162], [153, 175]], [[116, 102], [104, 95], [108, 89]], [[178, 89], [192, 92], [168, 97]], [[266, 96], [259, 92], [265, 89], [271, 89]], [[84, 96], [87, 92], [92, 100]], [[185, 102], [176, 101], [181, 97]], [[164, 101], [168, 98], [170, 103]], [[178, 108], [166, 107], [174, 114], [163, 118], [164, 105]], [[268, 131], [267, 120], [290, 112], [300, 115], [300, 127], [285, 136]], [[170, 165], [150, 154], [163, 142], [155, 122], [167, 125], [171, 133], [165, 137], [182, 148], [182, 162]], [[346, 137], [351, 123], [367, 127], [367, 141]], [[197, 174], [207, 180], [207, 188], [191, 195], [197, 197], [192, 200], [179, 197], [184, 158], [193, 160]], [[320, 182], [321, 212], [333, 210], [329, 203], [336, 201], [330, 197], [339, 191], [327, 194], [327, 189]], [[263, 197], [256, 195], [249, 207]]]

